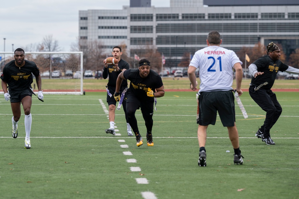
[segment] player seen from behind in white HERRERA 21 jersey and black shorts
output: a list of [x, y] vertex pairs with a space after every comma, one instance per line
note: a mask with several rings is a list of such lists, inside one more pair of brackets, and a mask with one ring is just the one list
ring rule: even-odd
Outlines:
[[215, 125], [217, 111], [222, 125], [227, 127], [234, 149], [234, 163], [243, 164], [239, 148], [239, 133], [236, 127], [235, 103], [233, 95], [233, 68], [236, 70], [236, 91], [242, 95], [242, 62], [234, 51], [220, 47], [222, 40], [217, 31], [211, 31], [207, 37], [208, 47], [195, 52], [188, 69], [191, 89], [197, 90], [195, 70], [199, 68], [201, 80], [198, 118], [198, 166], [206, 166], [206, 139], [209, 124]]

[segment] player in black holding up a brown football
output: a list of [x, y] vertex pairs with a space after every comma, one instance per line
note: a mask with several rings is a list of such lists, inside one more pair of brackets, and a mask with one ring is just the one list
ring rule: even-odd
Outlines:
[[[115, 46], [115, 47], [113, 47], [113, 50], [112, 50], [112, 56], [118, 60], [118, 63], [115, 65], [108, 65], [106, 63], [106, 59], [104, 60], [103, 78], [107, 79], [107, 77], [109, 75], [106, 89], [107, 89], [107, 103], [109, 106], [109, 123], [110, 123], [110, 128], [106, 129], [105, 132], [111, 133], [112, 135], [115, 135], [114, 120], [115, 120], [116, 101], [113, 97], [113, 94], [115, 92], [116, 79], [117, 79], [117, 76], [119, 75], [119, 73], [121, 73], [122, 71], [128, 70], [130, 67], [129, 64], [125, 60], [121, 59], [121, 55], [122, 55], [122, 48], [119, 46]], [[120, 92], [123, 92], [123, 90], [125, 90], [126, 88], [128, 88], [127, 80], [122, 82], [122, 85], [120, 86]], [[126, 94], [125, 94], [125, 96], [126, 96]], [[124, 100], [122, 102], [122, 107], [125, 111], [128, 136], [133, 136], [133, 133], [131, 131], [131, 126], [128, 122], [127, 112], [126, 112], [126, 100]]]

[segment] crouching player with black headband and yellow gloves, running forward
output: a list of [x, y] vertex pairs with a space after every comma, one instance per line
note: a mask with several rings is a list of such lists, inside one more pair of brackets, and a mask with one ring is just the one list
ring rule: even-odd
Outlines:
[[114, 98], [120, 100], [119, 89], [123, 80], [130, 80], [130, 88], [127, 91], [127, 114], [129, 123], [135, 133], [139, 147], [143, 139], [139, 133], [135, 112], [139, 107], [145, 121], [146, 139], [148, 146], [154, 146], [152, 128], [155, 98], [163, 97], [164, 86], [160, 75], [150, 70], [150, 62], [146, 59], [139, 61], [138, 69], [129, 69], [119, 74], [116, 80]]

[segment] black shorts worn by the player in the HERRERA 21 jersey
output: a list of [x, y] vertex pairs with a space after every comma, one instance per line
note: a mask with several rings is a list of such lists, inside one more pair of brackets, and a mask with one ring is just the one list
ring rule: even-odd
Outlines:
[[197, 123], [202, 126], [215, 125], [217, 111], [224, 127], [235, 125], [235, 98], [232, 91], [201, 92]]

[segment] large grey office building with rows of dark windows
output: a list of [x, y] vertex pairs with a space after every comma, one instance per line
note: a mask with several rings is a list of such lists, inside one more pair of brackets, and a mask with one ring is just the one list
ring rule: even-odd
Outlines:
[[299, 1], [170, 0], [170, 7], [131, 0], [122, 10], [80, 10], [79, 38], [98, 40], [111, 52], [125, 44], [129, 56], [144, 45], [155, 46], [176, 66], [185, 52], [206, 47], [211, 30], [222, 47], [239, 51], [261, 42], [280, 43], [288, 56], [299, 48]]

